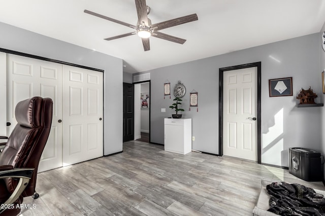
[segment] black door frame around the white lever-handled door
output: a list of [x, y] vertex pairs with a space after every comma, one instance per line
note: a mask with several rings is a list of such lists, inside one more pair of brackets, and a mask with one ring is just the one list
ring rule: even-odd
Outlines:
[[219, 68], [219, 156], [223, 155], [223, 72], [238, 70], [250, 67], [257, 67], [257, 163], [261, 164], [262, 159], [262, 124], [261, 124], [261, 62], [236, 65]]

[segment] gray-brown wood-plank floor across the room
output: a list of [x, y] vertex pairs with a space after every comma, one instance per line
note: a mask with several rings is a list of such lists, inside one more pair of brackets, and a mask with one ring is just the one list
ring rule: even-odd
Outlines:
[[38, 174], [22, 215], [252, 215], [261, 179], [325, 189], [288, 170], [131, 141], [123, 153]]

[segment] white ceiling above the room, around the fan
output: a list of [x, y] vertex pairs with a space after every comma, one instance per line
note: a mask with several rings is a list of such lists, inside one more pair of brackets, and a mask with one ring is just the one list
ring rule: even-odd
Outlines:
[[121, 58], [124, 71], [135, 73], [319, 32], [325, 21], [324, 0], [146, 2], [152, 24], [197, 13], [198, 21], [161, 30], [187, 39], [185, 44], [151, 37], [144, 52], [137, 35], [107, 41], [133, 29], [83, 12], [136, 25], [134, 0], [7, 0], [0, 22]]

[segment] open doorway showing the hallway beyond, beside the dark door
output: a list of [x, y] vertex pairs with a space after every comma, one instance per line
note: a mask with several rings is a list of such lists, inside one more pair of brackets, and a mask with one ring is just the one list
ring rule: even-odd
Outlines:
[[150, 81], [134, 84], [135, 140], [150, 143]]

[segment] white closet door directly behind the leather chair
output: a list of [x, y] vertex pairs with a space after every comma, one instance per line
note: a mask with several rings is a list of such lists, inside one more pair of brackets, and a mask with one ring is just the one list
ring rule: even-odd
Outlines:
[[39, 171], [62, 166], [62, 65], [7, 54], [7, 128], [9, 136], [17, 124], [15, 107], [19, 101], [34, 97], [53, 100], [53, 120], [49, 139], [41, 156]]

